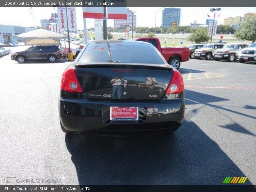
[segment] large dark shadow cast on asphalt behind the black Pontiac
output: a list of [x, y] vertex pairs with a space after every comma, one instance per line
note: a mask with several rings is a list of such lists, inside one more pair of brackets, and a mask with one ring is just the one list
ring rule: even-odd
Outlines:
[[173, 135], [76, 134], [65, 141], [80, 185], [221, 185], [225, 177], [244, 176], [192, 121]]

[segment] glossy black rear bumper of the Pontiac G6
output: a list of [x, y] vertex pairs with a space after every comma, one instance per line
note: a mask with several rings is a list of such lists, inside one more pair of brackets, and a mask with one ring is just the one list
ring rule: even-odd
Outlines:
[[[139, 107], [139, 120], [110, 121], [111, 106]], [[177, 129], [185, 112], [184, 99], [158, 101], [103, 101], [87, 99], [59, 100], [60, 122], [65, 129], [77, 132], [122, 133]]]

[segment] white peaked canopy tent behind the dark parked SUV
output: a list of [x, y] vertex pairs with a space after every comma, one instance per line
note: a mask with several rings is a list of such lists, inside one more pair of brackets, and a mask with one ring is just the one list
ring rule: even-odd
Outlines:
[[45, 29], [36, 29], [17, 35], [18, 38], [25, 39], [27, 45], [54, 45], [60, 44], [60, 39], [66, 38], [65, 35], [54, 33]]

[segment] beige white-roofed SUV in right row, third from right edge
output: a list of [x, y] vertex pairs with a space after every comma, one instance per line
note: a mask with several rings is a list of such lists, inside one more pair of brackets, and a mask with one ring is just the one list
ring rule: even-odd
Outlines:
[[205, 60], [210, 60], [214, 57], [215, 50], [221, 49], [223, 46], [224, 43], [205, 44], [202, 48], [195, 50], [195, 59], [204, 58]]

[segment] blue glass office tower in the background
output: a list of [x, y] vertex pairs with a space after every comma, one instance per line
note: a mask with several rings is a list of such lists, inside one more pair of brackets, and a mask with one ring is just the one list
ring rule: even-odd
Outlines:
[[[175, 24], [175, 25], [174, 25]], [[162, 11], [162, 27], [180, 25], [180, 8], [164, 8]]]

